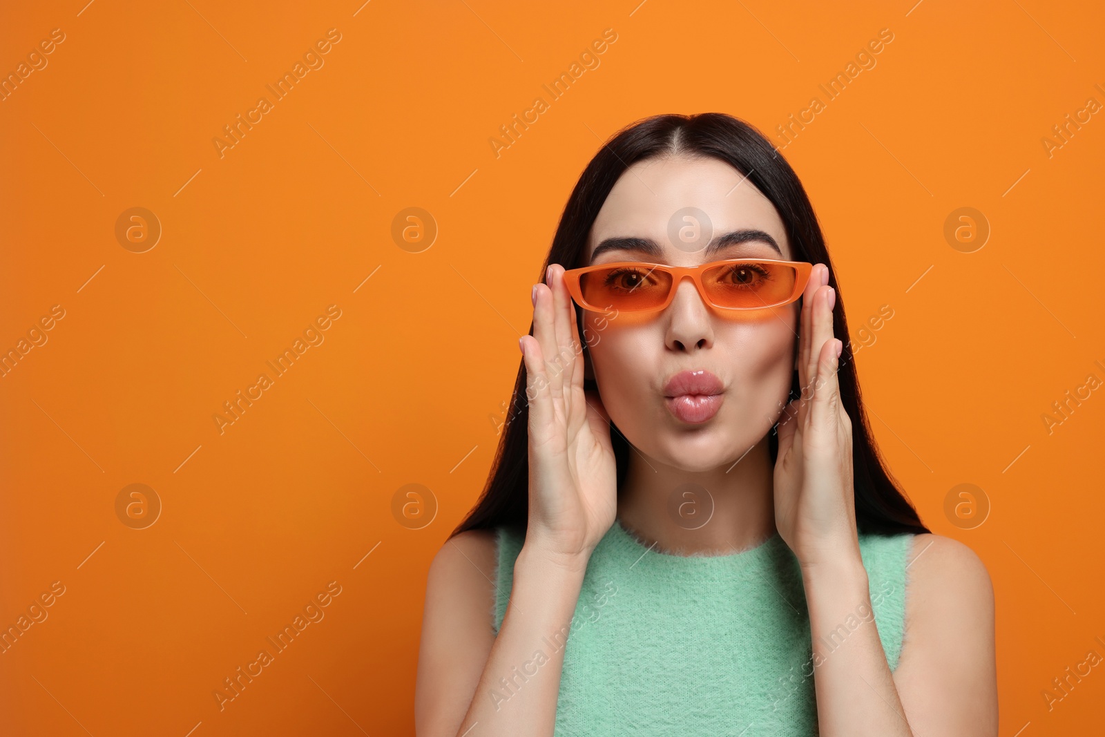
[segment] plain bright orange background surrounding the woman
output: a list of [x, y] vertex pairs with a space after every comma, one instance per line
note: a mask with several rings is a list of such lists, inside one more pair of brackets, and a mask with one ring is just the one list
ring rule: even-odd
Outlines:
[[[1101, 7], [82, 4], [9, 3], [0, 23], [4, 74], [65, 34], [0, 102], [0, 348], [65, 310], [0, 379], [0, 623], [65, 587], [0, 654], [0, 731], [412, 734], [425, 571], [485, 481], [588, 159], [669, 112], [781, 145], [884, 28], [785, 155], [852, 329], [894, 310], [856, 356], [864, 396], [923, 519], [991, 572], [1001, 734], [1099, 729], [1101, 667], [1050, 712], [1042, 691], [1105, 655], [1105, 390], [1050, 434], [1041, 415], [1105, 380], [1105, 120], [1051, 156], [1041, 139], [1105, 103]], [[220, 158], [212, 138], [332, 28], [324, 66]], [[499, 126], [608, 28], [600, 65], [496, 157]], [[115, 236], [131, 207], [164, 229], [145, 253]], [[439, 229], [420, 253], [391, 235], [408, 207]], [[960, 207], [991, 229], [974, 253], [944, 235]], [[332, 304], [325, 341], [220, 434], [223, 401]], [[162, 504], [145, 529], [116, 514], [133, 483]], [[392, 513], [411, 483], [438, 504], [422, 529]], [[945, 514], [961, 483], [991, 505], [972, 529]], [[220, 712], [223, 678], [330, 581], [325, 619]]]

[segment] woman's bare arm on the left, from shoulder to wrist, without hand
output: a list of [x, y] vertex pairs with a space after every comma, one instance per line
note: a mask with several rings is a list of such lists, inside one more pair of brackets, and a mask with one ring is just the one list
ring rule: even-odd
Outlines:
[[473, 550], [471, 538], [450, 540], [430, 569], [417, 734], [551, 735], [564, 643], [587, 561], [557, 561], [523, 546], [511, 602], [495, 638], [487, 607], [494, 592], [495, 540], [488, 535], [475, 545]]

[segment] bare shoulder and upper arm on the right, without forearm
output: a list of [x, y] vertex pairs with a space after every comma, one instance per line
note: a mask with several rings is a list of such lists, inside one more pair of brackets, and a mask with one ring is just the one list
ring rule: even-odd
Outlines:
[[993, 585], [969, 546], [915, 535], [894, 671], [915, 734], [998, 734]]

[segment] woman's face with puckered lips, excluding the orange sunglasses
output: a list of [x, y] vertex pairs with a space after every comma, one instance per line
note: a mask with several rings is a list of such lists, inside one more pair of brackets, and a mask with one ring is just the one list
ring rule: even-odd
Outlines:
[[[708, 223], [701, 214], [688, 213], [688, 208], [705, 213]], [[685, 214], [694, 220], [684, 220]], [[707, 246], [734, 231], [758, 234], [715, 251]], [[649, 252], [648, 245], [642, 250], [640, 243], [614, 243], [618, 248], [604, 246], [592, 261], [608, 239], [643, 239], [652, 241], [656, 251]], [[724, 161], [687, 157], [631, 166], [599, 211], [586, 256], [580, 265], [645, 261], [693, 266], [737, 257], [793, 261], [782, 220], [758, 189]], [[788, 400], [798, 340], [797, 302], [768, 309], [720, 310], [703, 302], [694, 283], [684, 278], [662, 312], [585, 312], [583, 325], [610, 419], [639, 451], [671, 466], [709, 471], [732, 464], [767, 435]], [[719, 380], [719, 398], [665, 396], [673, 393], [665, 387], [674, 376], [703, 370]], [[708, 406], [718, 401], [716, 413], [703, 421]]]

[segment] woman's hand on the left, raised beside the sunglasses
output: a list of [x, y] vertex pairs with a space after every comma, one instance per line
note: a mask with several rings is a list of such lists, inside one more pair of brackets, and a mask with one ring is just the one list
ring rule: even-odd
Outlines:
[[587, 565], [614, 522], [618, 473], [610, 418], [583, 391], [576, 305], [551, 264], [534, 287], [534, 335], [518, 341], [529, 403], [529, 520], [525, 546], [557, 562]]

